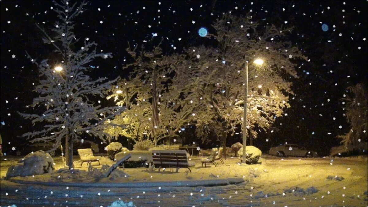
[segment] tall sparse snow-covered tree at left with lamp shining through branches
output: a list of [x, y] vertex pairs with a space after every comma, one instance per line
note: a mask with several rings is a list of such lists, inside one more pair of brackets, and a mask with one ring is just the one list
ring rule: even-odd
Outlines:
[[[105, 98], [113, 81], [106, 81], [102, 77], [92, 80], [88, 76], [88, 67], [95, 58], [106, 59], [111, 53], [98, 53], [97, 44], [84, 38], [83, 42], [73, 33], [74, 19], [82, 13], [85, 1], [69, 3], [54, 1], [53, 10], [60, 21], [56, 21], [51, 32], [46, 32], [40, 25], [36, 26], [43, 32], [43, 41], [51, 44], [59, 60], [37, 61], [28, 55], [32, 63], [39, 69], [39, 84], [35, 92], [39, 97], [33, 99], [33, 113], [20, 113], [25, 119], [31, 119], [33, 124], [43, 124], [40, 131], [23, 134], [33, 138], [31, 142], [52, 142], [55, 150], [66, 141], [66, 164], [72, 168], [73, 141], [77, 141], [82, 134], [99, 137], [104, 142], [110, 139], [109, 134], [103, 132], [106, 126], [115, 125], [106, 122], [120, 114], [123, 107], [113, 106], [103, 108], [98, 98]], [[79, 49], [74, 49], [79, 48]], [[116, 127], [123, 127], [115, 125]]]

